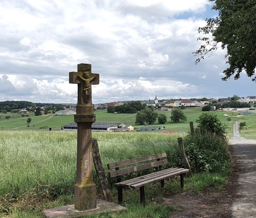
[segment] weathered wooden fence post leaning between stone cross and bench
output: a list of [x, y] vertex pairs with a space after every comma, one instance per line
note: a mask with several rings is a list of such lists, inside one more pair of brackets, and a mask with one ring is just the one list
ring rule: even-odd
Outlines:
[[105, 169], [102, 166], [98, 142], [97, 142], [97, 139], [95, 138], [92, 139], [92, 156], [93, 156], [94, 167], [96, 169], [97, 176], [101, 183], [101, 189], [102, 189], [104, 200], [111, 201], [112, 199], [111, 199], [109, 183], [107, 181]]

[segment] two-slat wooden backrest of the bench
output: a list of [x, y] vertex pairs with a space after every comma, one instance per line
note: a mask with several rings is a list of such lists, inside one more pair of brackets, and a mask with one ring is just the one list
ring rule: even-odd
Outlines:
[[[150, 156], [146, 156], [146, 157], [139, 157], [139, 158], [134, 158], [134, 159], [130, 159], [130, 160], [109, 163], [109, 164], [107, 164], [107, 168], [109, 170], [110, 169], [116, 169], [116, 170], [112, 171], [112, 172], [108, 172], [108, 174], [109, 174], [109, 177], [112, 178], [112, 177], [122, 176], [127, 173], [131, 173], [131, 172], [137, 172], [140, 170], [150, 169], [153, 167], [159, 167], [161, 165], [168, 163], [168, 160], [166, 159], [166, 157], [167, 157], [166, 153], [160, 153], [160, 154], [150, 155]], [[160, 160], [160, 158], [165, 158], [165, 159]], [[134, 167], [119, 169], [119, 167], [126, 167], [131, 164], [147, 162], [147, 161], [153, 161], [153, 162], [141, 164], [141, 165], [134, 166]]]

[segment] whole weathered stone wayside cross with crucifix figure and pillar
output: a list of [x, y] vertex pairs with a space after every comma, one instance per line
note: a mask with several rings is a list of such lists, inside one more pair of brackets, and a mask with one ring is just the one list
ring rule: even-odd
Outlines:
[[93, 179], [91, 124], [95, 122], [91, 101], [91, 85], [99, 84], [99, 74], [91, 73], [91, 64], [78, 64], [77, 72], [69, 72], [69, 83], [78, 84], [77, 165], [75, 183], [75, 209], [96, 208], [96, 185]]

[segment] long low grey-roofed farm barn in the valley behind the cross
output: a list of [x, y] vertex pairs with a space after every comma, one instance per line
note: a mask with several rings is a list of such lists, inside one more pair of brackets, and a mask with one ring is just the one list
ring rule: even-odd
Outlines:
[[[115, 129], [120, 129], [125, 127], [125, 124], [121, 122], [93, 122], [91, 124], [92, 131], [106, 131], [106, 132], [114, 132]], [[77, 130], [77, 123], [72, 122], [63, 127], [63, 130]]]

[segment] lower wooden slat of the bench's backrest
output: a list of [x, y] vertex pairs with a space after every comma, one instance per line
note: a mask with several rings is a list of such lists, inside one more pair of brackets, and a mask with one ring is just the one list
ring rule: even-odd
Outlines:
[[144, 170], [144, 169], [149, 169], [149, 168], [152, 168], [152, 167], [158, 167], [158, 166], [161, 166], [161, 165], [164, 165], [164, 164], [167, 164], [167, 163], [168, 163], [168, 160], [165, 159], [165, 160], [145, 163], [145, 164], [138, 165], [138, 166], [135, 166], [135, 167], [128, 167], [128, 168], [125, 168], [125, 169], [112, 171], [112, 172], [109, 172], [108, 174], [112, 178], [112, 177], [122, 176], [124, 174], [131, 173], [131, 172], [137, 172], [137, 171]]

